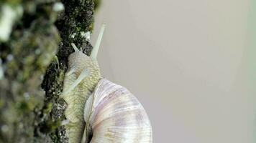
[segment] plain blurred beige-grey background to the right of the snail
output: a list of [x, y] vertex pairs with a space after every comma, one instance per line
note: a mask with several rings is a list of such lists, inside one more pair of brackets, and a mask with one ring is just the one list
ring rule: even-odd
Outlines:
[[154, 142], [255, 143], [249, 0], [108, 0], [96, 13], [104, 77], [127, 87]]

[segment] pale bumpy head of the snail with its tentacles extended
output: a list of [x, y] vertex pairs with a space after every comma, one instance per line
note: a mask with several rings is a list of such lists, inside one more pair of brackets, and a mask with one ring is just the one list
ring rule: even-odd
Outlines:
[[[70, 90], [72, 90], [78, 84], [83, 82], [83, 80], [86, 80], [86, 82], [83, 82], [84, 86], [88, 88], [90, 91], [93, 91], [94, 87], [99, 82], [99, 79], [101, 79], [99, 64], [96, 60], [96, 56], [99, 51], [99, 46], [104, 33], [104, 28], [105, 24], [101, 26], [99, 37], [96, 41], [96, 45], [93, 47], [93, 50], [91, 51], [90, 56], [83, 54], [83, 52], [80, 51], [75, 44], [71, 44], [75, 52], [68, 56], [68, 72], [65, 74], [65, 76], [76, 76], [76, 81], [73, 82], [72, 86], [70, 87]], [[70, 92], [70, 90], [68, 90], [67, 92]]]

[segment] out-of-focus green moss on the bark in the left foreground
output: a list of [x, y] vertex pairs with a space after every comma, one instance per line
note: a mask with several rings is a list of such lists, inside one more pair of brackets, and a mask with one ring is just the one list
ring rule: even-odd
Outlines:
[[57, 15], [52, 10], [54, 1], [5, 2], [21, 5], [24, 14], [14, 24], [9, 40], [0, 43], [4, 69], [0, 79], [0, 142], [49, 140], [47, 134], [37, 132], [37, 124], [45, 119], [40, 116], [45, 111], [44, 92], [40, 88], [42, 76], [60, 43], [54, 19], [50, 19]]

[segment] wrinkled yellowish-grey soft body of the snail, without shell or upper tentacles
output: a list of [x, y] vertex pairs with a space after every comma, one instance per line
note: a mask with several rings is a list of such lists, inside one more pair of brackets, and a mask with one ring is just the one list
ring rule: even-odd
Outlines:
[[[60, 98], [63, 98], [68, 104], [64, 112], [66, 119], [68, 119], [68, 124], [65, 124], [68, 142], [78, 143], [81, 142], [85, 127], [84, 105], [101, 76], [98, 64], [81, 51], [70, 54], [68, 68]], [[83, 69], [89, 70], [86, 72]]]

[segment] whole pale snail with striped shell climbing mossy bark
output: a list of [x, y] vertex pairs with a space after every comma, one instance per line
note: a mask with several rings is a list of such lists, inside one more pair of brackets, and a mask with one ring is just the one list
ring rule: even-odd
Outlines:
[[126, 88], [101, 77], [96, 55], [104, 27], [90, 56], [71, 44], [75, 52], [68, 56], [60, 95], [68, 104], [68, 142], [150, 143], [152, 127], [142, 104]]

